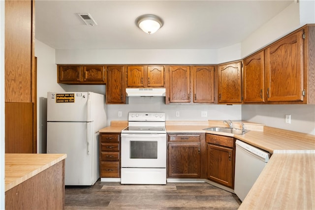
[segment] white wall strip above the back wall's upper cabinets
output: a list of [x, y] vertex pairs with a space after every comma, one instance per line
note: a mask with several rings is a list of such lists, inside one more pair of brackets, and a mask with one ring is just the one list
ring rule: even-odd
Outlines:
[[56, 50], [58, 64], [215, 64], [216, 50]]

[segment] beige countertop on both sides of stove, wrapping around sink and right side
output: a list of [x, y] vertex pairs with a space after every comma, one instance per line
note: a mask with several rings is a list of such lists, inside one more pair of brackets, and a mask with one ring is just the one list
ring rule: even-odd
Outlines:
[[[244, 135], [203, 130], [227, 127], [222, 120], [165, 122], [167, 133], [234, 136], [273, 153], [240, 209], [315, 209], [315, 136], [241, 120], [233, 120], [233, 127], [240, 129], [241, 123], [250, 130]], [[125, 127], [114, 123], [100, 132], [120, 132]]]

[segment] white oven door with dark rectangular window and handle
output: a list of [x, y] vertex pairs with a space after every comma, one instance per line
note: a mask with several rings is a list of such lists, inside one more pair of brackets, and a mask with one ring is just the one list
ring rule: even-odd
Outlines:
[[122, 168], [166, 168], [166, 133], [122, 133]]

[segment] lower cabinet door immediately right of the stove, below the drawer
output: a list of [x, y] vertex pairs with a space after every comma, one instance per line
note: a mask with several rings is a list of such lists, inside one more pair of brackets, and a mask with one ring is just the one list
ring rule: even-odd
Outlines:
[[200, 144], [168, 144], [168, 177], [200, 177]]

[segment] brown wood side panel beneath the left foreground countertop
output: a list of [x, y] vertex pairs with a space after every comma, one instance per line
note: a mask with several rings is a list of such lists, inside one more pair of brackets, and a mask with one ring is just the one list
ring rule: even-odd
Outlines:
[[5, 192], [6, 210], [63, 210], [64, 160]]

